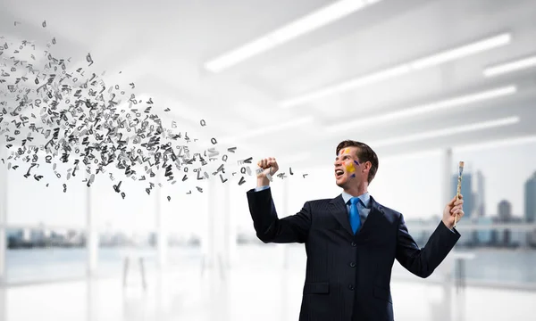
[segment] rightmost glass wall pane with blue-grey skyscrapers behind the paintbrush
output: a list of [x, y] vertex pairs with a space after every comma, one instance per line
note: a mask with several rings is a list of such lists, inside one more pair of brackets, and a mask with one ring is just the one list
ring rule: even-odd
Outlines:
[[[465, 161], [464, 224], [460, 251], [475, 254], [466, 263], [468, 279], [498, 284], [536, 284], [536, 142], [510, 140], [495, 146], [460, 148]], [[453, 164], [453, 179], [456, 164]], [[454, 189], [455, 187], [453, 187]], [[485, 228], [494, 225], [497, 228]], [[461, 239], [462, 240], [462, 239]]]

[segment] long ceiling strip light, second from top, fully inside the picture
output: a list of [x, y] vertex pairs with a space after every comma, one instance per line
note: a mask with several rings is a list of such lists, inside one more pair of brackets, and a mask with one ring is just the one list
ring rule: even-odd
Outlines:
[[378, 83], [389, 78], [396, 78], [398, 76], [410, 73], [411, 71], [421, 70], [427, 67], [439, 65], [444, 62], [460, 59], [474, 53], [490, 50], [500, 45], [507, 45], [510, 43], [511, 39], [512, 37], [510, 34], [500, 34], [498, 36], [488, 37], [469, 45], [463, 45], [448, 51], [435, 53], [430, 56], [417, 59], [413, 62], [403, 63], [387, 70], [380, 70], [364, 77], [353, 78], [334, 86], [328, 86], [305, 95], [299, 95], [297, 97], [282, 101], [280, 106], [281, 108], [294, 107], [328, 95], [346, 92], [351, 89]]

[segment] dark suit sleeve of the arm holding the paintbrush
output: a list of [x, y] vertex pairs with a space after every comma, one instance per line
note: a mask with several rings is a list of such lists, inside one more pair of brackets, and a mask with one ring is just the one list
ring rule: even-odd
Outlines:
[[400, 214], [397, 235], [397, 260], [415, 276], [431, 276], [435, 268], [452, 250], [460, 234], [456, 229], [448, 229], [443, 222], [436, 227], [423, 249], [419, 249], [414, 238], [409, 235], [404, 216]]

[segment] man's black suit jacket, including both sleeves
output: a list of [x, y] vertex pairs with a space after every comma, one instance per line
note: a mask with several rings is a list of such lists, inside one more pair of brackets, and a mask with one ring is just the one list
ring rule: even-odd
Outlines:
[[442, 222], [419, 249], [404, 217], [371, 197], [371, 211], [354, 235], [342, 195], [306, 202], [278, 218], [270, 189], [247, 192], [257, 237], [264, 243], [305, 243], [306, 281], [300, 321], [393, 320], [394, 260], [415, 276], [430, 276], [460, 235]]

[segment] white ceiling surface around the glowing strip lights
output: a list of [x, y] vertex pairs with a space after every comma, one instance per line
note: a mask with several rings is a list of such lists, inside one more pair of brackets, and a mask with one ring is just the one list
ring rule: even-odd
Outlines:
[[[389, 137], [518, 115], [513, 126], [378, 147], [381, 155], [482, 140], [536, 134], [536, 69], [497, 78], [482, 70], [536, 53], [536, 4], [532, 0], [383, 0], [221, 73], [203, 64], [278, 29], [328, 0], [18, 1], [1, 0], [0, 35], [46, 43], [57, 55], [94, 70], [107, 83], [134, 82], [139, 95], [170, 107], [180, 124], [206, 119], [209, 136], [240, 136], [312, 116], [312, 124], [237, 140], [255, 156], [312, 152], [309, 163], [331, 161], [343, 139], [375, 142]], [[41, 27], [46, 20], [46, 29]], [[21, 25], [13, 26], [13, 21]], [[330, 95], [289, 109], [281, 101], [469, 44], [503, 32], [512, 42], [438, 67]], [[121, 71], [121, 74], [119, 73]], [[498, 86], [515, 95], [373, 128], [327, 134], [349, 119], [397, 111]], [[264, 147], [265, 146], [265, 147]], [[373, 146], [374, 147], [374, 146]], [[259, 152], [259, 149], [263, 152]]]

